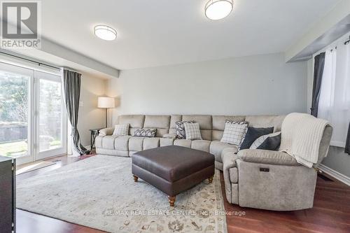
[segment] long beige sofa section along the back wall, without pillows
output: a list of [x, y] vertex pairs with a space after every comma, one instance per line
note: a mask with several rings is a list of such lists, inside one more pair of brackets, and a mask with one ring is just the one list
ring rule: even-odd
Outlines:
[[[225, 120], [246, 120], [252, 127], [274, 127], [281, 131], [284, 115], [120, 115], [116, 124], [130, 124], [129, 136], [114, 136], [113, 128], [102, 129], [96, 138], [96, 152], [102, 155], [129, 156], [139, 150], [159, 146], [185, 146], [215, 155], [217, 169], [223, 171], [223, 149], [237, 153], [237, 147], [222, 143]], [[175, 139], [176, 121], [195, 120], [200, 123], [203, 140]], [[131, 136], [136, 129], [157, 129], [155, 138]]]

